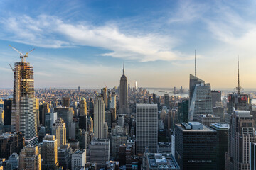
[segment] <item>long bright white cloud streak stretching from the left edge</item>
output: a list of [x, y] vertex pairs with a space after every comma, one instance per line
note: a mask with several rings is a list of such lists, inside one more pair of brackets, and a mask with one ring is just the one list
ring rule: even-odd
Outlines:
[[86, 23], [67, 23], [55, 16], [41, 15], [37, 18], [19, 16], [3, 19], [1, 27], [7, 35], [4, 40], [22, 42], [38, 47], [73, 47], [85, 45], [110, 50], [103, 56], [119, 57], [140, 62], [155, 60], [184, 60], [186, 55], [177, 52], [176, 38], [155, 33], [128, 35], [113, 23], [91, 26]]

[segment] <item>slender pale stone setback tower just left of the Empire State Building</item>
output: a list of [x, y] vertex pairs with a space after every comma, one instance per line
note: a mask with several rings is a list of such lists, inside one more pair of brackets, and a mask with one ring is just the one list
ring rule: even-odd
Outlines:
[[106, 139], [107, 130], [105, 130], [105, 105], [102, 96], [97, 96], [94, 106], [94, 132], [95, 138]]

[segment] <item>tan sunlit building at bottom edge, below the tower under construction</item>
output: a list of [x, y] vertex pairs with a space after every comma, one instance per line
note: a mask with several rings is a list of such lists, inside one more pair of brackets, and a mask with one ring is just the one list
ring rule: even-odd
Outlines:
[[41, 170], [41, 154], [39, 154], [38, 146], [23, 147], [20, 157], [20, 169]]

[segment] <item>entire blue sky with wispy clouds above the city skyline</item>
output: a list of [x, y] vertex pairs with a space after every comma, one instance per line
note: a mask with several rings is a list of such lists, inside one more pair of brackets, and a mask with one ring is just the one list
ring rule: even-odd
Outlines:
[[28, 56], [36, 87], [256, 86], [255, 1], [0, 1], [0, 88], [13, 86], [9, 63]]

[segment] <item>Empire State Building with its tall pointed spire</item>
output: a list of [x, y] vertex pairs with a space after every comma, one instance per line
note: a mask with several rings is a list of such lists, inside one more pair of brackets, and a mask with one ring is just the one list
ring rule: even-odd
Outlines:
[[124, 67], [123, 67], [123, 74], [120, 79], [120, 90], [119, 90], [119, 114], [128, 114], [129, 107], [128, 107], [128, 83], [127, 77], [124, 74]]

